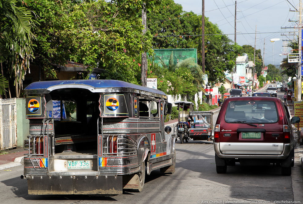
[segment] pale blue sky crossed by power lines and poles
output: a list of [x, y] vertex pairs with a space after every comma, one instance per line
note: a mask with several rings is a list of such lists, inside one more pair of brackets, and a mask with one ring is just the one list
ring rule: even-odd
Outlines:
[[[299, 0], [288, 0], [293, 6], [299, 7]], [[193, 11], [201, 15], [202, 0], [174, 0], [175, 3], [181, 4], [183, 10]], [[225, 33], [234, 33], [234, 0], [205, 0], [205, 16], [210, 19], [212, 23], [216, 23], [219, 28]], [[297, 12], [291, 12], [294, 8], [286, 0], [237, 0], [237, 43], [239, 45], [255, 44], [255, 27], [257, 25], [257, 39], [256, 49], [261, 49], [263, 56], [264, 38], [265, 38], [265, 57], [264, 63], [272, 64], [274, 58], [274, 65], [279, 66], [285, 55], [282, 54], [283, 42], [282, 39], [294, 39], [293, 36], [281, 36], [281, 34], [288, 34], [294, 29], [281, 29], [281, 27], [294, 27], [294, 22], [290, 20], [297, 20]], [[218, 9], [218, 7], [220, 9]], [[222, 8], [224, 7], [224, 8]], [[212, 11], [211, 11], [212, 10]], [[221, 12], [222, 13], [221, 13]], [[298, 29], [296, 29], [298, 31]], [[279, 33], [260, 33], [260, 32], [279, 32]], [[241, 34], [242, 33], [242, 34]], [[228, 35], [234, 40], [234, 35]], [[280, 38], [280, 41], [275, 42], [274, 52], [272, 51], [272, 43], [270, 39]], [[253, 60], [253, 56], [252, 56]]]

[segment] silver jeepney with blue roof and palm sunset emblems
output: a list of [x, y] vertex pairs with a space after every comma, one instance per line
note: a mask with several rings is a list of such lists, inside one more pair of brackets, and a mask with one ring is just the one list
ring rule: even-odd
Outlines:
[[60, 80], [31, 83], [25, 94], [28, 194], [116, 195], [142, 191], [145, 171], [174, 172], [164, 92], [118, 80]]

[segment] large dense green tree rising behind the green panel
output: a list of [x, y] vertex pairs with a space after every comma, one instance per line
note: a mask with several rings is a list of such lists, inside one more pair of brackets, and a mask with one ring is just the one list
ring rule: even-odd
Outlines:
[[[155, 13], [149, 13], [147, 17], [151, 33], [155, 36], [174, 36], [155, 37], [153, 48], [196, 47], [198, 49], [198, 65], [201, 65], [201, 36], [189, 35], [201, 35], [202, 16], [193, 12], [183, 12], [181, 5], [174, 3], [173, 0], [163, 0], [156, 11]], [[163, 19], [169, 20], [163, 21]], [[222, 31], [216, 24], [205, 18], [205, 34], [222, 34]], [[240, 50], [241, 46], [234, 45], [226, 35], [206, 35], [205, 69], [208, 73], [208, 81], [214, 84], [223, 82], [224, 72], [231, 71], [234, 68]]]

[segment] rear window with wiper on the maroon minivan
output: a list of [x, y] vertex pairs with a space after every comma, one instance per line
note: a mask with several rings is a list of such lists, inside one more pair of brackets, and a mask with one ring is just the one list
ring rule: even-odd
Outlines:
[[273, 101], [230, 101], [225, 112], [228, 123], [275, 123], [278, 114]]

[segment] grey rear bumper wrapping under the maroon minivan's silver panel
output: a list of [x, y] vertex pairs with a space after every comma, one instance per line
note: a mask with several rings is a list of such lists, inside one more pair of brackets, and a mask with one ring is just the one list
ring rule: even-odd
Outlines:
[[283, 151], [279, 155], [271, 154], [223, 154], [220, 151], [220, 143], [214, 142], [215, 153], [219, 158], [242, 158], [242, 159], [285, 159], [291, 150], [291, 144], [284, 144]]

